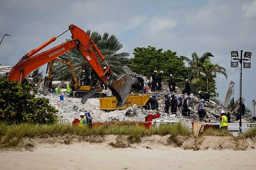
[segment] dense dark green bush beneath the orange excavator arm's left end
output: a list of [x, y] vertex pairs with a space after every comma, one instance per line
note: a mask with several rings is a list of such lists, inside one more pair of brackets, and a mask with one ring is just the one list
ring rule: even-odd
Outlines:
[[55, 122], [58, 112], [49, 105], [47, 98], [35, 98], [31, 85], [0, 78], [0, 121], [49, 124]]

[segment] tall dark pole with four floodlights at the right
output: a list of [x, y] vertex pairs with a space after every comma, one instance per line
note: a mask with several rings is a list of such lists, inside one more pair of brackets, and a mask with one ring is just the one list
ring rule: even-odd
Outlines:
[[240, 115], [240, 121], [239, 121], [239, 133], [242, 133], [242, 64], [244, 64], [244, 68], [250, 69], [250, 57], [252, 56], [251, 52], [244, 52], [244, 58], [242, 58], [243, 50], [241, 50], [240, 58], [238, 51], [232, 51], [231, 52], [231, 67], [238, 67], [238, 61], [240, 62], [240, 82], [239, 82], [239, 115]]

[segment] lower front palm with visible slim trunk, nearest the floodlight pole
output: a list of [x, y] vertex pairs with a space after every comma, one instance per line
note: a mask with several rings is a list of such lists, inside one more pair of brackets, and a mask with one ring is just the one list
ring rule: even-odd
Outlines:
[[[197, 62], [196, 66], [192, 66], [192, 68], [205, 75], [207, 83], [207, 92], [209, 91], [209, 79], [217, 77], [216, 73], [223, 74], [227, 79], [226, 69], [223, 66], [220, 66], [219, 64], [211, 63], [209, 60], [206, 60], [204, 64]], [[214, 75], [212, 75], [212, 73], [214, 73]]]

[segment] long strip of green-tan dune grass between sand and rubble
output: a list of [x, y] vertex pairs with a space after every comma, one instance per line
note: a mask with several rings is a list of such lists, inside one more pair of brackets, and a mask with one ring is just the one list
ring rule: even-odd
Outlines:
[[191, 135], [189, 128], [180, 122], [177, 124], [163, 125], [159, 128], [152, 127], [147, 130], [133, 121], [109, 122], [92, 129], [87, 126], [79, 127], [70, 124], [19, 124], [8, 127], [5, 123], [0, 123], [0, 148], [16, 147], [22, 138], [47, 138], [63, 135], [91, 136], [91, 135], [128, 135], [131, 142], [139, 142], [143, 136], [150, 135]]

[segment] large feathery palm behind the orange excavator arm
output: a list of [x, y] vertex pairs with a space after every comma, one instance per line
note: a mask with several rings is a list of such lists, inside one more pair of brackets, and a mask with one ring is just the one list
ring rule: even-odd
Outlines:
[[[90, 35], [90, 30], [87, 30], [86, 33]], [[105, 32], [102, 37], [98, 32], [92, 32], [90, 36], [101, 51], [102, 55], [106, 58], [108, 64], [111, 65], [113, 72], [120, 74], [122, 72], [122, 66], [129, 66], [130, 61], [127, 57], [130, 54], [128, 52], [118, 53], [123, 45], [114, 35], [109, 37], [109, 34]], [[87, 61], [77, 49], [73, 49], [61, 57], [70, 59], [74, 63], [76, 67], [76, 74], [78, 76], [81, 75], [82, 67], [88, 65]], [[105, 64], [102, 63], [100, 59], [99, 61], [102, 65]], [[70, 78], [69, 68], [62, 63], [56, 63], [54, 66], [53, 77], [56, 80], [68, 80]]]

